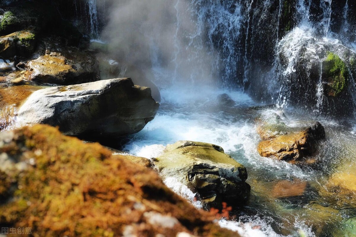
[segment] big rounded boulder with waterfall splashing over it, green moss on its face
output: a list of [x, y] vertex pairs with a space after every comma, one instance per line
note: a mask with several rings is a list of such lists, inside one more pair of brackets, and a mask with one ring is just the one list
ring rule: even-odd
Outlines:
[[[279, 82], [288, 104], [331, 116], [354, 116], [356, 53], [294, 28], [278, 44]], [[298, 40], [296, 40], [298, 39]]]

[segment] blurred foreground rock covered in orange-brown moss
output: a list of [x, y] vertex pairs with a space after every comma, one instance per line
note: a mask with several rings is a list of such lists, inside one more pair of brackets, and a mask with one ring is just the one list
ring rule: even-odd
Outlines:
[[46, 125], [0, 133], [0, 225], [31, 236], [239, 236], [149, 168]]

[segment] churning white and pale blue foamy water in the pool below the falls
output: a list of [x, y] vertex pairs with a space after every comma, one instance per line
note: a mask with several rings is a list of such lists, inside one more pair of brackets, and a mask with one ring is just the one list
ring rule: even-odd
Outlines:
[[[257, 186], [263, 186], [266, 182], [268, 185], [270, 180], [277, 177], [314, 182], [323, 175], [323, 172], [260, 157], [256, 149], [260, 137], [256, 133], [253, 117], [248, 114], [248, 107], [255, 106], [256, 103], [241, 91], [174, 85], [169, 89], [162, 89], [161, 93], [162, 102], [156, 118], [148, 123], [144, 130], [133, 135], [124, 150], [136, 156], [153, 158], [159, 156], [167, 144], [179, 140], [218, 144], [225, 152], [246, 166], [249, 175], [247, 182], [252, 187], [251, 203], [242, 211], [239, 220], [221, 220], [219, 224], [238, 231], [242, 236], [282, 236], [272, 226], [278, 225], [276, 218], [287, 215], [286, 213], [290, 211], [286, 209], [286, 204], [261, 193], [261, 189]], [[234, 107], [219, 105], [218, 95], [222, 93], [229, 94], [236, 105]], [[262, 115], [270, 116], [272, 112], [282, 113], [280, 110], [265, 109]], [[298, 114], [285, 112], [289, 117], [286, 118], [289, 126], [295, 126], [295, 122], [301, 119]], [[327, 128], [339, 126], [335, 121], [321, 121]], [[325, 156], [325, 159], [339, 156], [335, 146], [332, 141], [326, 141], [322, 145], [323, 151], [319, 156]], [[324, 168], [329, 169], [326, 165]], [[261, 183], [256, 186], [256, 182]], [[184, 185], [177, 183], [177, 180], [168, 178], [165, 183], [172, 190], [192, 201], [195, 206], [201, 207], [200, 203], [193, 201], [195, 194]], [[293, 215], [298, 217], [305, 213], [299, 210]], [[284, 226], [281, 225], [279, 228]], [[299, 232], [314, 236], [311, 228], [298, 218], [293, 221], [292, 227], [288, 228], [294, 231], [288, 236], [298, 236]]]

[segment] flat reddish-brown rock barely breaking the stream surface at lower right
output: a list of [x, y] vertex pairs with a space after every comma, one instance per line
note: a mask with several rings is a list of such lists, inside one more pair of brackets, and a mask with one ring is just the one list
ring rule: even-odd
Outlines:
[[307, 182], [302, 180], [279, 180], [272, 190], [273, 197], [290, 198], [302, 196], [307, 189]]

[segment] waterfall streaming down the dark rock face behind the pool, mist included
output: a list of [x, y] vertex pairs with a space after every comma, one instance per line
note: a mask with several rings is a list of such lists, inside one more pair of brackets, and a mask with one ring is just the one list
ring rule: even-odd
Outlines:
[[[143, 52], [130, 63], [151, 64], [158, 85], [242, 89], [258, 101], [323, 113], [334, 100], [325, 94], [330, 82], [322, 77], [327, 54], [333, 52], [351, 65], [355, 26], [346, 0], [342, 6], [332, 0], [156, 1], [159, 4], [153, 7], [145, 1], [127, 0], [130, 7], [115, 15], [127, 15], [127, 19], [115, 22], [110, 31], [124, 27], [117, 30], [120, 44], [133, 41], [128, 46], [135, 47], [132, 50], [149, 48], [151, 58], [141, 60]], [[95, 13], [96, 2], [88, 2], [93, 5], [90, 12]], [[142, 16], [136, 20], [133, 15]], [[95, 35], [98, 19], [96, 14], [90, 16]], [[166, 24], [150, 21], [157, 17]], [[138, 39], [142, 37], [148, 46]], [[350, 93], [345, 96], [352, 97]], [[336, 109], [330, 110], [337, 110], [333, 106]]]

